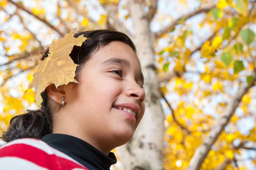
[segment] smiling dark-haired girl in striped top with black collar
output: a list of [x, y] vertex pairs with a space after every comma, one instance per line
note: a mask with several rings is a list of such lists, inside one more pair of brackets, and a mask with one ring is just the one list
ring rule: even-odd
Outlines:
[[50, 84], [41, 93], [41, 109], [12, 118], [1, 137], [9, 142], [0, 148], [1, 170], [109, 170], [116, 163], [111, 150], [133, 137], [145, 111], [134, 44], [116, 31], [74, 37], [80, 35], [90, 39], [69, 54], [79, 64], [79, 84]]

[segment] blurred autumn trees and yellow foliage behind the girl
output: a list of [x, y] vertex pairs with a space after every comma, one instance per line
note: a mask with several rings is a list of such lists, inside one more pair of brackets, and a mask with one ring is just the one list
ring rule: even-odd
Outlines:
[[33, 89], [24, 93], [35, 66], [73, 29], [131, 37], [150, 96], [145, 115], [161, 115], [163, 128], [138, 128], [157, 140], [132, 143], [130, 157], [113, 150], [113, 170], [256, 169], [255, 0], [0, 0], [0, 133], [38, 109]]

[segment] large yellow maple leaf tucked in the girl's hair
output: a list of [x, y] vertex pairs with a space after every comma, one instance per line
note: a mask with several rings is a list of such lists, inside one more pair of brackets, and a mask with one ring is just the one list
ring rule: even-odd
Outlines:
[[85, 40], [87, 38], [83, 35], [75, 38], [73, 31], [59, 40], [52, 40], [52, 44], [49, 45], [49, 56], [43, 61], [38, 61], [37, 72], [33, 74], [33, 80], [28, 87], [37, 87], [35, 100], [38, 107], [43, 102], [41, 92], [50, 84], [55, 84], [58, 89], [58, 86], [67, 85], [69, 82], [78, 83], [74, 77], [76, 66], [79, 65], [73, 62], [69, 54], [73, 46], [81, 46]]

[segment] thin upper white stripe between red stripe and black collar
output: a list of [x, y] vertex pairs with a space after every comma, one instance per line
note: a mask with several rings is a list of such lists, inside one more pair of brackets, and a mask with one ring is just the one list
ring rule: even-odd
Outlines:
[[[8, 147], [12, 144], [26, 144], [26, 145], [29, 145], [29, 146], [32, 146], [32, 147], [35, 147], [35, 148], [38, 148], [42, 151], [44, 151], [45, 153], [49, 154], [49, 155], [53, 155], [55, 154], [56, 156], [59, 156], [61, 158], [65, 158], [65, 159], [68, 159], [70, 161], [73, 161], [75, 162], [76, 164], [79, 164], [81, 165], [79, 162], [77, 162], [76, 160], [74, 160], [73, 158], [67, 156], [66, 154], [60, 152], [59, 150], [56, 150], [52, 147], [50, 147], [47, 143], [45, 143], [44, 141], [40, 141], [40, 140], [37, 140], [37, 139], [33, 139], [33, 138], [22, 138], [22, 139], [17, 139], [17, 140], [14, 140], [14, 141], [11, 141], [5, 145], [3, 145], [1, 148], [4, 148], [4, 147]], [[81, 165], [83, 166], [83, 165]], [[84, 166], [83, 166], [84, 167]]]

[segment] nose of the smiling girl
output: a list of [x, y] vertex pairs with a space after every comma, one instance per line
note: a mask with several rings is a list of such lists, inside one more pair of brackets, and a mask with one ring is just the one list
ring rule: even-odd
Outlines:
[[143, 102], [145, 99], [144, 89], [142, 89], [136, 82], [127, 84], [125, 94], [130, 98], [134, 98], [138, 103]]

